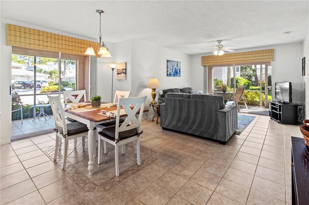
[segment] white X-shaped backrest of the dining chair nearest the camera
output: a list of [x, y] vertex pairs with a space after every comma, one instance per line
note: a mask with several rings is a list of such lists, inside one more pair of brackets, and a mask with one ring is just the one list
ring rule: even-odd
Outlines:
[[[146, 96], [136, 97], [136, 98], [119, 98], [118, 99], [118, 107], [117, 107], [117, 116], [116, 116], [116, 129], [115, 129], [115, 138], [118, 139], [119, 132], [127, 131], [133, 128], [137, 128], [137, 131], [140, 132], [141, 124], [142, 124], [142, 116], [146, 103]], [[130, 105], [135, 105], [133, 110]], [[125, 110], [128, 115], [125, 121], [119, 127], [119, 119], [120, 119], [120, 110], [121, 107]], [[139, 112], [139, 118], [136, 118], [137, 112]], [[128, 126], [130, 124], [130, 126]]]

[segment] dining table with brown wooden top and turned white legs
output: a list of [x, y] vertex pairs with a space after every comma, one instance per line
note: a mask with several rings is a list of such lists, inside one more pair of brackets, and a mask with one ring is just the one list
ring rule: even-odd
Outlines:
[[[86, 105], [87, 107], [79, 107], [75, 109], [70, 109], [72, 106], [78, 105]], [[89, 102], [78, 102], [63, 105], [64, 113], [67, 118], [74, 119], [78, 122], [84, 123], [88, 127], [88, 154], [89, 154], [89, 162], [88, 162], [88, 171], [89, 175], [92, 175], [95, 168], [94, 155], [96, 155], [95, 150], [95, 126], [97, 124], [106, 123], [110, 121], [115, 121], [115, 118], [108, 118], [106, 115], [101, 114], [101, 110], [109, 111], [116, 114], [117, 107], [109, 107], [112, 103], [101, 104], [100, 109], [91, 108], [91, 103]], [[87, 109], [90, 108], [90, 109]], [[133, 110], [134, 107], [131, 107]], [[144, 112], [149, 111], [148, 109], [144, 109]], [[137, 112], [139, 114], [139, 111]], [[125, 118], [128, 115], [125, 113], [125, 110], [121, 107], [120, 118]]]

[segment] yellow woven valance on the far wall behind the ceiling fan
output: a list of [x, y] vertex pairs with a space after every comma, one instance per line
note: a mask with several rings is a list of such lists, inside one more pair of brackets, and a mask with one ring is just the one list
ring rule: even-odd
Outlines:
[[240, 53], [202, 56], [202, 66], [269, 62], [273, 61], [273, 49], [255, 50]]

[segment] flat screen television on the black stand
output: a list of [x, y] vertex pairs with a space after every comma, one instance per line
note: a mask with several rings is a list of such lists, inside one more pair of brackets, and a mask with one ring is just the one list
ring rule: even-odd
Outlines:
[[283, 103], [292, 102], [292, 83], [291, 82], [276, 82], [276, 100]]

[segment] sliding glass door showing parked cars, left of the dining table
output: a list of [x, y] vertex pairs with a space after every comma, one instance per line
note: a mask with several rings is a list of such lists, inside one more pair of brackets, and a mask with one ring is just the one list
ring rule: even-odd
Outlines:
[[[59, 62], [61, 62], [59, 66]], [[12, 139], [50, 132], [54, 119], [46, 94], [75, 90], [77, 60], [12, 54]]]

